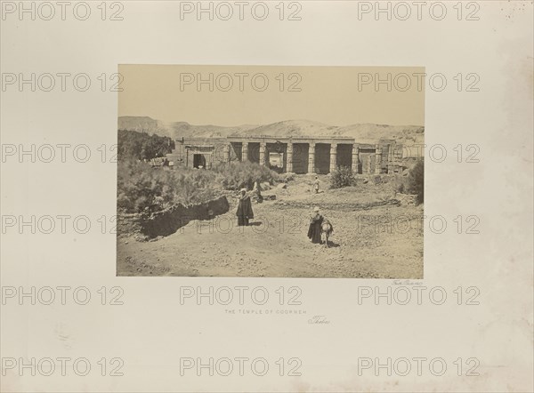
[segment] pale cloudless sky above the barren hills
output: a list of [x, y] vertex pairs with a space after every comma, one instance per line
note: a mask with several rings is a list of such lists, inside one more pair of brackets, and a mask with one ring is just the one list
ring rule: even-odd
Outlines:
[[[424, 72], [420, 67], [120, 65], [124, 91], [118, 93], [118, 116], [215, 125], [294, 119], [424, 125], [425, 80], [418, 89], [421, 76], [414, 76]], [[392, 91], [384, 83], [376, 92], [376, 79], [387, 81], [388, 74]], [[301, 91], [290, 92], [292, 85]]]

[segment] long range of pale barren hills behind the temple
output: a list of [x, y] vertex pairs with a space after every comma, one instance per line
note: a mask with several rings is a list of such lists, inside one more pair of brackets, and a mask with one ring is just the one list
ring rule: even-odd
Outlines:
[[121, 116], [119, 130], [156, 133], [174, 140], [183, 138], [225, 138], [227, 136], [269, 135], [288, 136], [345, 136], [360, 143], [374, 143], [377, 140], [396, 140], [404, 145], [424, 143], [425, 127], [420, 125], [351, 124], [336, 126], [312, 120], [285, 120], [265, 125], [193, 125], [186, 122], [164, 123], [147, 116]]

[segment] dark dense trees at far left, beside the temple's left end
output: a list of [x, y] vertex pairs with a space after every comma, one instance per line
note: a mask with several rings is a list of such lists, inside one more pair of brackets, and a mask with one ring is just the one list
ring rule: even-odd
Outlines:
[[119, 161], [127, 159], [150, 160], [165, 156], [174, 149], [174, 140], [168, 137], [149, 135], [146, 132], [118, 130], [117, 154]]

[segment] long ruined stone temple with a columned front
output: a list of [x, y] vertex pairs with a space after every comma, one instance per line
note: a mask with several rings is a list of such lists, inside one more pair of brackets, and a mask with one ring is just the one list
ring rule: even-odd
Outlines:
[[348, 137], [228, 136], [175, 140], [166, 157], [171, 166], [210, 169], [217, 163], [251, 161], [277, 172], [328, 174], [338, 166], [353, 173], [382, 174], [400, 170], [402, 145], [395, 140], [358, 143]]

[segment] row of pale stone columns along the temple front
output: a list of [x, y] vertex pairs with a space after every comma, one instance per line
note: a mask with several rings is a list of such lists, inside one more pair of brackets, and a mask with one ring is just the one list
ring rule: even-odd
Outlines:
[[[226, 145], [224, 154], [226, 161], [230, 161], [230, 145]], [[265, 152], [267, 144], [260, 142], [260, 164], [265, 165]], [[246, 160], [248, 156], [248, 142], [241, 144], [241, 159]], [[360, 163], [360, 147], [357, 144], [352, 145], [352, 172], [358, 173]], [[382, 148], [380, 145], [375, 147], [375, 173], [380, 174], [382, 165]], [[337, 166], [337, 143], [330, 143], [330, 172], [336, 171]], [[293, 172], [293, 143], [287, 143], [287, 172]], [[308, 149], [308, 172], [315, 173], [315, 143], [309, 144]], [[368, 161], [368, 173], [371, 172], [371, 160]]]

